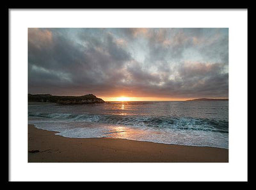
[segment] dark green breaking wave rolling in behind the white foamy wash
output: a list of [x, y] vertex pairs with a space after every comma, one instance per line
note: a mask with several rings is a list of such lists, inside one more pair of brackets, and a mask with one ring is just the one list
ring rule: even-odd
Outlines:
[[68, 122], [93, 122], [120, 124], [135, 127], [164, 127], [180, 130], [212, 131], [228, 133], [228, 121], [209, 118], [134, 115], [92, 115], [70, 113], [31, 113], [29, 117], [68, 120]]

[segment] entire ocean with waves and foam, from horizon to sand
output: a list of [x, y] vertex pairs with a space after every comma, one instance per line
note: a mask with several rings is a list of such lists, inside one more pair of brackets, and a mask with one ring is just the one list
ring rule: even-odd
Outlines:
[[122, 138], [228, 149], [228, 101], [31, 104], [28, 123], [68, 138]]

